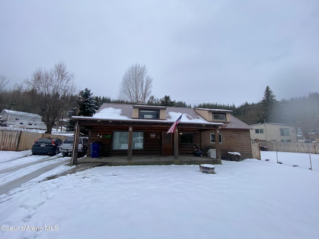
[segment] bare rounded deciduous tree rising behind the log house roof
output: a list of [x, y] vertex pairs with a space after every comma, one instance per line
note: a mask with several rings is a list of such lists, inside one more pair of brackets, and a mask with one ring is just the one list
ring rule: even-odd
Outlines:
[[146, 102], [151, 96], [153, 78], [148, 74], [146, 65], [138, 63], [124, 73], [119, 87], [119, 98], [132, 103]]

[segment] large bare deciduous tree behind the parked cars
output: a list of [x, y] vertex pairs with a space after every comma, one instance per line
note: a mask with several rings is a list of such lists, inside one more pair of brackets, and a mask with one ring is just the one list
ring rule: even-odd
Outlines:
[[58, 62], [50, 70], [38, 68], [26, 84], [36, 92], [39, 114], [47, 126], [47, 132], [51, 133], [55, 121], [69, 106], [68, 101], [77, 90], [73, 73], [67, 70], [63, 62]]

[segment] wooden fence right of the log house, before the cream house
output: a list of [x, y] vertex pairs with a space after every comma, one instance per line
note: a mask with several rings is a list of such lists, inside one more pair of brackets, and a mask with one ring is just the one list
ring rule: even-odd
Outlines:
[[319, 143], [291, 143], [259, 140], [259, 144], [266, 146], [267, 151], [319, 153]]

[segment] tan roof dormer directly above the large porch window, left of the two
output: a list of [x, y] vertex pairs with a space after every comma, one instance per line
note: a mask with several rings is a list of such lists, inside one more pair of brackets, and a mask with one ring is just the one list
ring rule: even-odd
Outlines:
[[162, 106], [133, 106], [133, 119], [166, 119], [166, 107]]

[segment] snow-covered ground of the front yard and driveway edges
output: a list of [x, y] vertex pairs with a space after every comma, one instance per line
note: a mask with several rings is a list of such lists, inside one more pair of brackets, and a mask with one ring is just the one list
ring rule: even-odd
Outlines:
[[[0, 171], [19, 153], [0, 151]], [[61, 166], [0, 196], [0, 238], [318, 239], [319, 155], [311, 158], [313, 171], [309, 154], [279, 152], [278, 164], [262, 152], [223, 161], [216, 174], [117, 166], [41, 181], [70, 168]]]

